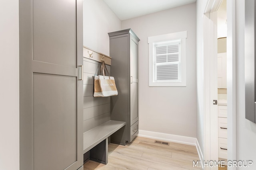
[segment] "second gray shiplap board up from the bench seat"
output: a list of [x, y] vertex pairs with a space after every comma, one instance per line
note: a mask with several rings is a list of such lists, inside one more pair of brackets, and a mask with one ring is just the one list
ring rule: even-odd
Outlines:
[[88, 107], [84, 109], [84, 120], [91, 119], [92, 117], [96, 117], [102, 115], [104, 113], [110, 112], [110, 104], [102, 104], [99, 106]]

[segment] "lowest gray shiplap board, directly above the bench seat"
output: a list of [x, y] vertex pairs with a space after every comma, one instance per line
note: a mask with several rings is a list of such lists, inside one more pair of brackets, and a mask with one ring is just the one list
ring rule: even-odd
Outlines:
[[84, 132], [110, 120], [110, 112], [84, 121]]

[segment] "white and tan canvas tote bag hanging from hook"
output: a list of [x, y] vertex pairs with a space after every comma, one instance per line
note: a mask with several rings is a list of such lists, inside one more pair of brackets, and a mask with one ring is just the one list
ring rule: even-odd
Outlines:
[[108, 73], [106, 64], [103, 60], [100, 66], [100, 74], [102, 72], [103, 76], [94, 76], [94, 97], [108, 97], [118, 95], [115, 79], [114, 77], [109, 76], [109, 73], [108, 76], [105, 76], [105, 69]]

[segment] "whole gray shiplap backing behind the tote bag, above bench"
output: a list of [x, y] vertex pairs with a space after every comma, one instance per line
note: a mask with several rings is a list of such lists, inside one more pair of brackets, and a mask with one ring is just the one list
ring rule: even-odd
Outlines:
[[[110, 120], [110, 97], [94, 98], [94, 76], [98, 75], [100, 62], [84, 58], [84, 132]], [[110, 66], [107, 65], [108, 72]]]

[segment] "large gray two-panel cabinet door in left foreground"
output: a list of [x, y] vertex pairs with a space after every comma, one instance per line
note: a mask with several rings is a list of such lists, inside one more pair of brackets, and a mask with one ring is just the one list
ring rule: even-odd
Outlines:
[[83, 165], [82, 0], [20, 1], [20, 170]]

